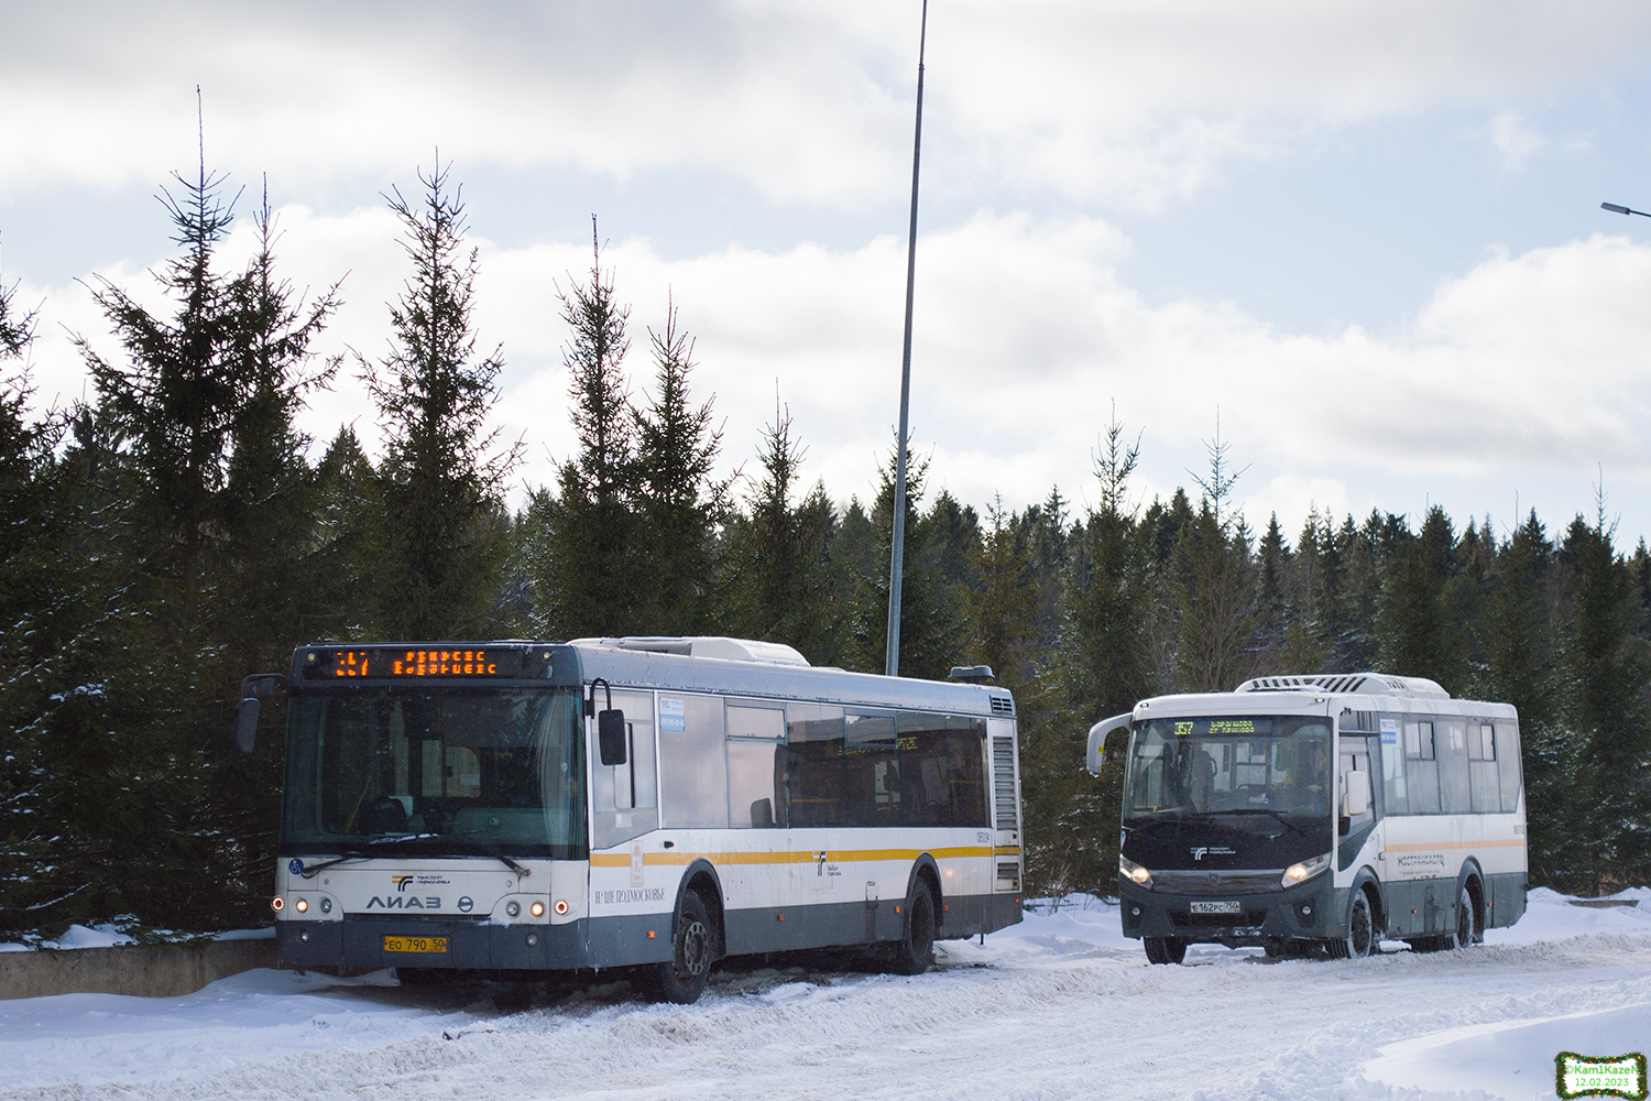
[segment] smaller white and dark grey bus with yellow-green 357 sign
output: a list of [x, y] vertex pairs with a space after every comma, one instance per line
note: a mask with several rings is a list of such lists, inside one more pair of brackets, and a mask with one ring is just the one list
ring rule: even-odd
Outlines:
[[1526, 910], [1519, 721], [1420, 677], [1261, 677], [1142, 700], [1118, 903], [1154, 964], [1189, 944], [1367, 956], [1463, 947]]

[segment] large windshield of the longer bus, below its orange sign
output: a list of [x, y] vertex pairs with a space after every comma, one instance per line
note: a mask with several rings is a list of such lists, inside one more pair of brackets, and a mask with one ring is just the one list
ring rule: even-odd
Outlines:
[[296, 695], [282, 847], [583, 857], [580, 728], [571, 690]]

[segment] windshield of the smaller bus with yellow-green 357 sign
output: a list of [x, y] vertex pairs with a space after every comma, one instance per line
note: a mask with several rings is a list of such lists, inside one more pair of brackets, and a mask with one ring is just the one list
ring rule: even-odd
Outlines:
[[1322, 716], [1151, 718], [1129, 738], [1124, 820], [1331, 812], [1331, 726]]

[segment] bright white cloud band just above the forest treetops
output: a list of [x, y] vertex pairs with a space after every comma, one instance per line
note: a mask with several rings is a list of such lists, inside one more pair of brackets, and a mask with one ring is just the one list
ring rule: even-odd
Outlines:
[[[378, 355], [385, 302], [398, 292], [393, 218], [376, 208], [320, 216], [281, 211], [281, 259], [299, 286], [320, 289], [348, 271], [347, 305], [324, 350]], [[234, 248], [248, 248], [238, 238]], [[583, 243], [523, 249], [482, 244], [477, 325], [509, 363], [497, 423], [522, 436], [528, 484], [551, 479], [573, 452], [553, 281], [589, 266]], [[1218, 302], [1144, 302], [1113, 261], [1128, 243], [1086, 218], [979, 215], [923, 241], [913, 352], [913, 432], [933, 452], [931, 489], [982, 507], [1002, 492], [1019, 507], [1050, 485], [1090, 500], [1093, 449], [1113, 401], [1144, 428], [1139, 485], [1167, 492], [1202, 470], [1202, 439], [1222, 436], [1251, 522], [1276, 510], [1294, 532], [1308, 503], [1364, 513], [1384, 477], [1426, 485], [1476, 480], [1491, 500], [1535, 482], [1585, 487], [1605, 464], [1613, 485], [1651, 480], [1651, 248], [1623, 238], [1491, 256], [1438, 287], [1408, 330], [1278, 333]], [[233, 251], [233, 249], [231, 249]], [[634, 304], [632, 391], [650, 383], [646, 325], [664, 320], [667, 292], [697, 340], [693, 391], [715, 395], [728, 467], [750, 465], [771, 423], [774, 386], [809, 446], [804, 475], [834, 494], [875, 490], [898, 403], [905, 246], [784, 253], [725, 248], [667, 261], [642, 239], [614, 243], [604, 266]], [[114, 274], [154, 295], [135, 269]], [[84, 291], [25, 287], [46, 297], [36, 348], [40, 399], [76, 398], [84, 375], [64, 327], [102, 345]], [[370, 444], [373, 414], [348, 373], [317, 398], [305, 426], [325, 439], [355, 421]], [[1360, 489], [1354, 489], [1354, 482]], [[1631, 503], [1636, 494], [1618, 492]], [[1527, 500], [1530, 500], [1527, 497]], [[1557, 517], [1577, 507], [1560, 503]], [[1540, 500], [1530, 503], [1542, 505]], [[1479, 513], [1486, 500], [1466, 512]], [[1550, 510], [1552, 512], [1552, 510]], [[1630, 528], [1644, 518], [1630, 515]]]

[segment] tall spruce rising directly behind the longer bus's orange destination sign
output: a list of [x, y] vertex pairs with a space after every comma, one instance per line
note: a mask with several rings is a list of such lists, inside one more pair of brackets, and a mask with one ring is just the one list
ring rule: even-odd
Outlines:
[[413, 264], [390, 305], [390, 353], [362, 361], [385, 431], [385, 561], [378, 629], [401, 639], [479, 637], [507, 555], [502, 489], [520, 444], [497, 449], [484, 423], [499, 401], [500, 350], [479, 357], [472, 322], [477, 251], [466, 249], [462, 188], [438, 157], [414, 205], [386, 198]]

